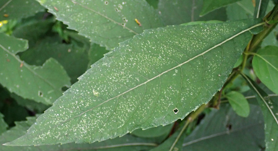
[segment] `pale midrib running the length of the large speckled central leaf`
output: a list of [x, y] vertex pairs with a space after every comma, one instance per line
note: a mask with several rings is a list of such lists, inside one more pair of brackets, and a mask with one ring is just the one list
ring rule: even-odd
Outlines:
[[80, 113], [79, 115], [76, 115], [76, 116], [74, 116], [74, 117], [72, 117], [72, 118], [69, 118], [69, 119], [65, 120], [64, 122], [61, 122], [60, 124], [55, 125], [55, 126], [52, 127], [52, 128], [55, 128], [55, 127], [57, 127], [57, 126], [59, 126], [59, 125], [65, 123], [65, 122], [67, 122], [67, 121], [70, 121], [70, 120], [72, 120], [72, 119], [74, 119], [74, 118], [76, 118], [76, 117], [79, 117], [79, 116], [81, 116], [81, 115], [83, 115], [83, 114], [85, 114], [85, 113], [87, 113], [87, 112], [89, 112], [89, 111], [91, 111], [91, 110], [93, 110], [93, 109], [95, 109], [95, 108], [97, 108], [97, 107], [99, 107], [99, 106], [101, 106], [101, 105], [103, 105], [103, 104], [105, 104], [105, 103], [107, 103], [107, 102], [109, 102], [109, 101], [111, 101], [111, 100], [117, 98], [117, 97], [120, 97], [120, 96], [122, 96], [122, 95], [128, 93], [129, 91], [132, 91], [132, 90], [134, 90], [134, 89], [136, 89], [136, 88], [138, 88], [138, 87], [140, 87], [140, 86], [143, 86], [143, 85], [147, 84], [148, 82], [150, 82], [150, 81], [152, 81], [152, 80], [154, 80], [154, 79], [160, 77], [160, 76], [163, 75], [164, 73], [167, 73], [167, 72], [169, 72], [169, 71], [171, 71], [171, 70], [173, 70], [173, 69], [175, 69], [175, 68], [177, 68], [177, 67], [179, 67], [179, 66], [181, 66], [181, 65], [183, 65], [183, 64], [186, 64], [186, 63], [188, 63], [189, 61], [191, 61], [191, 60], [193, 60], [193, 59], [195, 59], [195, 58], [197, 58], [197, 57], [199, 57], [199, 56], [202, 56], [202, 55], [204, 55], [205, 53], [209, 52], [210, 50], [212, 50], [212, 49], [214, 49], [214, 48], [216, 48], [216, 47], [222, 45], [223, 43], [225, 43], [225, 42], [227, 42], [227, 41], [229, 41], [229, 40], [231, 40], [231, 39], [234, 39], [235, 37], [241, 35], [242, 33], [245, 33], [246, 31], [249, 31], [249, 30], [251, 30], [251, 29], [253, 29], [253, 28], [256, 28], [256, 27], [259, 27], [259, 26], [261, 26], [261, 25], [264, 25], [264, 22], [263, 22], [263, 23], [259, 23], [259, 24], [257, 24], [257, 25], [254, 25], [254, 26], [252, 26], [252, 27], [250, 27], [250, 28], [248, 28], [248, 29], [246, 29], [246, 30], [243, 30], [243, 31], [239, 32], [238, 34], [236, 34], [236, 35], [234, 35], [234, 36], [231, 36], [230, 38], [228, 38], [228, 39], [222, 41], [221, 43], [219, 43], [219, 44], [217, 44], [217, 45], [215, 45], [215, 46], [209, 48], [208, 50], [206, 50], [206, 51], [204, 51], [204, 52], [202, 52], [202, 53], [196, 55], [195, 57], [190, 58], [189, 60], [184, 61], [183, 63], [180, 63], [179, 65], [176, 65], [176, 66], [174, 66], [174, 67], [172, 67], [172, 68], [170, 68], [170, 69], [168, 69], [168, 70], [166, 70], [166, 71], [164, 71], [164, 72], [162, 72], [162, 73], [156, 75], [155, 77], [153, 77], [153, 78], [147, 80], [146, 82], [144, 82], [144, 83], [142, 83], [142, 84], [140, 84], [140, 85], [137, 85], [137, 86], [135, 86], [135, 87], [133, 87], [133, 88], [131, 88], [131, 89], [129, 89], [129, 90], [127, 90], [127, 91], [125, 91], [125, 92], [123, 92], [123, 93], [121, 93], [121, 94], [115, 96], [115, 97], [112, 97], [112, 98], [110, 98], [110, 99], [108, 99], [108, 100], [102, 102], [101, 104], [99, 104], [99, 105], [97, 105], [97, 106], [95, 106], [95, 107], [92, 107], [92, 108], [90, 108], [90, 109], [88, 109], [88, 110], [86, 110], [86, 111]]

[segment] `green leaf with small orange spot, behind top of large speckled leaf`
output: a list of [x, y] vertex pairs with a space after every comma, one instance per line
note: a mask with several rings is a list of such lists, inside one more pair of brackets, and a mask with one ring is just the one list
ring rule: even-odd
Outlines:
[[37, 1], [70, 29], [108, 50], [145, 29], [164, 26], [146, 1]]

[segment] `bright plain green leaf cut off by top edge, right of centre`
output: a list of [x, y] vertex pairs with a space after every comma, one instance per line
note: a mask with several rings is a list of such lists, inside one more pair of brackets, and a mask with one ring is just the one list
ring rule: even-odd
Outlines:
[[223, 0], [205, 0], [202, 11], [200, 13], [200, 16], [204, 16], [215, 9], [227, 6], [229, 4], [233, 4], [238, 1], [240, 1], [240, 0], [225, 0], [225, 1], [223, 1]]

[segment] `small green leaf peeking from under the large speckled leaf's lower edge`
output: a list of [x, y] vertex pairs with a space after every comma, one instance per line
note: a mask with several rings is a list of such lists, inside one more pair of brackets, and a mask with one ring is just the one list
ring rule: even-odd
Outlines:
[[173, 124], [169, 124], [166, 126], [158, 126], [149, 129], [136, 129], [131, 134], [138, 137], [160, 137], [164, 135], [168, 135], [173, 127]]

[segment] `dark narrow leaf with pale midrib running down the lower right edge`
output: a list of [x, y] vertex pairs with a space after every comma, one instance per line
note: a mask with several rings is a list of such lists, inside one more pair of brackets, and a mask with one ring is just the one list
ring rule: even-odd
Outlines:
[[242, 74], [256, 95], [264, 118], [266, 151], [278, 150], [278, 99], [272, 100], [254, 81]]

